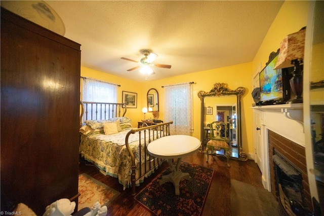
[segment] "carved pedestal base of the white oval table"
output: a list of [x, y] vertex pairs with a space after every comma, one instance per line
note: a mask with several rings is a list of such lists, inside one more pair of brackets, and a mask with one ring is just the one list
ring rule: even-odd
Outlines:
[[163, 175], [162, 179], [159, 181], [159, 185], [163, 185], [166, 182], [172, 182], [174, 187], [175, 187], [175, 192], [176, 195], [179, 196], [180, 191], [179, 191], [179, 183], [180, 181], [184, 178], [186, 180], [192, 181], [192, 178], [190, 177], [188, 172], [181, 172], [179, 170], [179, 166], [181, 163], [181, 158], [178, 158], [176, 166], [173, 165], [172, 159], [168, 159], [168, 163], [171, 168], [171, 173], [168, 175]]

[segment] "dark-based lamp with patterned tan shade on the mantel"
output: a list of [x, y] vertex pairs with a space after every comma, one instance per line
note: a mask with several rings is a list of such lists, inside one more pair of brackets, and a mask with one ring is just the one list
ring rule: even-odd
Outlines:
[[303, 93], [303, 58], [305, 49], [306, 27], [287, 35], [280, 44], [280, 52], [274, 69], [294, 66], [293, 77], [290, 79], [290, 87], [295, 93], [295, 98], [287, 103], [302, 103]]

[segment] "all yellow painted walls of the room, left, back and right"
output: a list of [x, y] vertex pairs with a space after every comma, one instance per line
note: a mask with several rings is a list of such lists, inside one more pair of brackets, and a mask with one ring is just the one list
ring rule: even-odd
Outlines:
[[[198, 91], [209, 92], [214, 83], [227, 83], [230, 89], [236, 89], [239, 86], [246, 88], [246, 93], [241, 100], [241, 128], [242, 128], [242, 148], [246, 153], [254, 154], [253, 143], [253, 121], [252, 121], [252, 75], [261, 64], [262, 67], [268, 61], [269, 54], [280, 47], [280, 42], [287, 34], [298, 31], [306, 26], [308, 15], [308, 1], [286, 1], [271, 27], [269, 28], [264, 41], [262, 42], [254, 60], [244, 64], [232, 65], [228, 67], [198, 71], [192, 74], [186, 74], [157, 81], [135, 82], [129, 79], [120, 78], [89, 69], [81, 68], [81, 75], [84, 77], [93, 77], [95, 79], [120, 84], [118, 87], [118, 102], [121, 102], [121, 92], [130, 91], [137, 93], [137, 109], [128, 109], [127, 116], [132, 119], [133, 127], [137, 122], [143, 119], [142, 108], [146, 107], [146, 93], [150, 88], [155, 88], [159, 94], [159, 119], [164, 118], [164, 89], [161, 86], [195, 82], [193, 84], [193, 136], [200, 139], [200, 99], [197, 96]], [[152, 117], [152, 114], [146, 114], [146, 118]]]

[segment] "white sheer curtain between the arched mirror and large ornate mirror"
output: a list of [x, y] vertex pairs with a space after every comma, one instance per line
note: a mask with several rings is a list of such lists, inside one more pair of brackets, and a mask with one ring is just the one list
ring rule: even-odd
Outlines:
[[192, 134], [192, 83], [165, 86], [165, 122], [173, 121], [170, 133]]

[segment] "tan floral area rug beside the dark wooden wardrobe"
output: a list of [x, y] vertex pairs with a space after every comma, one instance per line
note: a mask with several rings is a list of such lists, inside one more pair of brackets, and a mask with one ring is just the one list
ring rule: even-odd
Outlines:
[[101, 206], [107, 206], [120, 194], [86, 173], [79, 174], [78, 190], [81, 194], [78, 198], [78, 210], [84, 207], [91, 208], [97, 201]]

